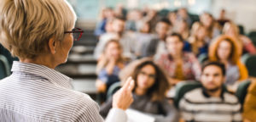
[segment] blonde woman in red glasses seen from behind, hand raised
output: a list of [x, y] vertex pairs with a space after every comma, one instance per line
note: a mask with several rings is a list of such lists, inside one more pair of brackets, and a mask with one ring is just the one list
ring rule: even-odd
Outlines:
[[[20, 59], [13, 64], [13, 74], [0, 80], [1, 122], [103, 121], [97, 103], [73, 91], [72, 79], [55, 71], [83, 33], [73, 29], [75, 20], [65, 0], [0, 1], [0, 42]], [[113, 96], [106, 121], [126, 121], [133, 86], [130, 78]]]

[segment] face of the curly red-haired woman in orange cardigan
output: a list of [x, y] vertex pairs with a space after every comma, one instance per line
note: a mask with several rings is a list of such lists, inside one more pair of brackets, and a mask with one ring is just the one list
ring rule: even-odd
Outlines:
[[227, 60], [230, 58], [232, 45], [228, 41], [222, 41], [218, 44], [218, 58]]

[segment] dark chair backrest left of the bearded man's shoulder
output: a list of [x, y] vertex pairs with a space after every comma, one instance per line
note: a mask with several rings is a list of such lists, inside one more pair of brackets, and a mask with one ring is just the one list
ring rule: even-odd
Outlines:
[[177, 83], [175, 86], [175, 97], [174, 97], [174, 105], [178, 108], [178, 104], [183, 96], [195, 88], [202, 87], [201, 83], [195, 80], [182, 81]]

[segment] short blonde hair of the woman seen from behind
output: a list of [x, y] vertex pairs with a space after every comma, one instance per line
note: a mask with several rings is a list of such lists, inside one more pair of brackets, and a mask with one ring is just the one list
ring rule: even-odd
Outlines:
[[66, 0], [1, 0], [0, 42], [13, 56], [36, 58], [64, 39], [77, 19]]

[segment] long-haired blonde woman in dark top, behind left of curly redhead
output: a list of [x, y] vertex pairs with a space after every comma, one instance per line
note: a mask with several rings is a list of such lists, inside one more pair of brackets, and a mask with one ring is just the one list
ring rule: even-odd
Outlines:
[[191, 36], [188, 42], [185, 42], [183, 50], [192, 52], [198, 57], [208, 53], [208, 42], [206, 27], [200, 22], [195, 22], [192, 25]]

